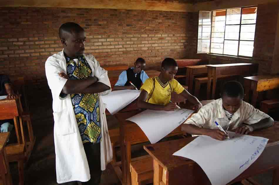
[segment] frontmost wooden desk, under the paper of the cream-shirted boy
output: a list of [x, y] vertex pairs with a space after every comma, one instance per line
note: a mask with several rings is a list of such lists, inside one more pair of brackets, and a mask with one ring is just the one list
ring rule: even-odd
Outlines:
[[[273, 185], [278, 185], [279, 122], [267, 129], [252, 132], [250, 135], [268, 138], [268, 144], [256, 162], [230, 183], [273, 169]], [[196, 162], [172, 155], [194, 139], [195, 137], [191, 137], [144, 146], [144, 149], [153, 158], [154, 185], [211, 184]]]

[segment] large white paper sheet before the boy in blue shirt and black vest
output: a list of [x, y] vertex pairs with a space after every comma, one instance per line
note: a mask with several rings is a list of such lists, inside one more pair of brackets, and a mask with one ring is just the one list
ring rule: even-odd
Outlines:
[[102, 96], [102, 100], [105, 104], [107, 104], [107, 110], [110, 114], [114, 115], [127, 105], [129, 105], [132, 101], [139, 97], [140, 90], [115, 90], [110, 92], [108, 95]]

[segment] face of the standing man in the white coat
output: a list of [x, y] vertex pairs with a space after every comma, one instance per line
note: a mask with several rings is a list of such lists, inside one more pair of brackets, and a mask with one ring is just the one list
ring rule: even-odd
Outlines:
[[79, 33], [68, 33], [66, 39], [61, 39], [65, 53], [70, 58], [77, 58], [83, 55], [85, 50], [86, 34], [84, 31]]

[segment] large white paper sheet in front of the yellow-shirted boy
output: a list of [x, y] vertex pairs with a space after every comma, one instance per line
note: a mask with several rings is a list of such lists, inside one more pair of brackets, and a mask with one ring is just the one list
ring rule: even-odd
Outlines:
[[153, 144], [176, 129], [193, 113], [193, 110], [145, 110], [127, 120], [135, 122]]

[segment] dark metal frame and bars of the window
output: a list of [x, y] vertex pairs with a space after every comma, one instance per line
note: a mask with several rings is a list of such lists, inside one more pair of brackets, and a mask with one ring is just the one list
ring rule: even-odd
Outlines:
[[[257, 8], [257, 13], [256, 13], [256, 23], [249, 23], [249, 24], [242, 24], [242, 9], [243, 8]], [[226, 24], [227, 21], [227, 11], [230, 9], [241, 9], [240, 12], [240, 22], [239, 24]], [[238, 48], [237, 48], [237, 55], [228, 55], [228, 54], [220, 54], [220, 53], [211, 53], [211, 40], [212, 40], [212, 25], [213, 25], [213, 11], [217, 11], [217, 10], [212, 10], [211, 11], [211, 33], [210, 33], [210, 45], [209, 45], [209, 53], [210, 55], [221, 55], [221, 56], [230, 56], [230, 57], [237, 57], [237, 58], [248, 58], [248, 59], [252, 59], [253, 58], [253, 54], [252, 56], [244, 56], [244, 55], [239, 55], [239, 46], [240, 46], [240, 41], [253, 41], [255, 43], [255, 36], [256, 36], [256, 28], [255, 28], [255, 35], [254, 35], [254, 40], [241, 40], [240, 39], [240, 34], [241, 34], [241, 26], [242, 25], [255, 25], [257, 24], [257, 19], [258, 19], [258, 6], [244, 6], [244, 7], [238, 7], [238, 8], [229, 8], [229, 9], [223, 9], [226, 10], [226, 17], [225, 17], [225, 29], [224, 29], [224, 42], [223, 42], [223, 53], [224, 53], [224, 47], [225, 47], [225, 41], [238, 41]], [[225, 39], [225, 35], [226, 35], [226, 26], [238, 26], [239, 25], [239, 33], [238, 33], [238, 40], [233, 40], [233, 39]]]

